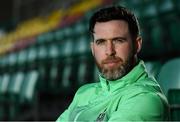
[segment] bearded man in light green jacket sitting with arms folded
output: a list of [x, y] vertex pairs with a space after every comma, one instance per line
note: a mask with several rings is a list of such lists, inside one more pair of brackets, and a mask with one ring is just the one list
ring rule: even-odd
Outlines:
[[161, 121], [168, 104], [160, 86], [137, 58], [142, 38], [126, 8], [102, 8], [90, 19], [98, 83], [82, 86], [57, 121]]

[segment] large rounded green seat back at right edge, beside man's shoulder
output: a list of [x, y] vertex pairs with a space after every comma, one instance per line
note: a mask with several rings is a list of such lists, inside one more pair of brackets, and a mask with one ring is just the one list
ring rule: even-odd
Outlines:
[[157, 79], [166, 95], [169, 89], [180, 89], [180, 58], [167, 61]]

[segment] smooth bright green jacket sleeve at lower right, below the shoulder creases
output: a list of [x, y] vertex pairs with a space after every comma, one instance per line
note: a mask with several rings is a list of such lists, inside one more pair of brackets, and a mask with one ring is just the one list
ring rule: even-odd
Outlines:
[[162, 121], [168, 117], [167, 104], [153, 93], [143, 93], [123, 100], [109, 121]]

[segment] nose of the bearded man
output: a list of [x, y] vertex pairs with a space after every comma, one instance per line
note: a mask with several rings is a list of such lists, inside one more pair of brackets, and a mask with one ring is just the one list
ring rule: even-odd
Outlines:
[[115, 45], [113, 44], [112, 41], [107, 41], [107, 44], [106, 44], [106, 55], [107, 56], [113, 56], [116, 54], [114, 46]]

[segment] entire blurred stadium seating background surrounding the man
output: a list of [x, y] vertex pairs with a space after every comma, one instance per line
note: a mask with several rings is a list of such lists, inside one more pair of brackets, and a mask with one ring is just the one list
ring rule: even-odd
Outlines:
[[0, 3], [0, 120], [52, 120], [75, 91], [98, 81], [88, 21], [106, 5], [137, 15], [139, 57], [180, 120], [179, 0], [2, 0]]

